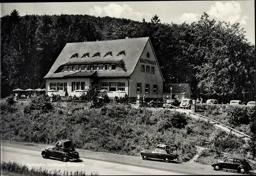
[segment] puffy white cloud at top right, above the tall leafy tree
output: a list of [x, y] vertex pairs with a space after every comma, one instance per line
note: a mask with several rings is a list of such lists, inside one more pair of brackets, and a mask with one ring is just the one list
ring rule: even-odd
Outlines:
[[[238, 2], [230, 1], [225, 4], [222, 2], [216, 2], [215, 6], [211, 6], [207, 14], [210, 17], [217, 17], [221, 20], [227, 20], [230, 23], [237, 22], [241, 17], [241, 7]], [[245, 17], [241, 20], [243, 24], [246, 24]]]

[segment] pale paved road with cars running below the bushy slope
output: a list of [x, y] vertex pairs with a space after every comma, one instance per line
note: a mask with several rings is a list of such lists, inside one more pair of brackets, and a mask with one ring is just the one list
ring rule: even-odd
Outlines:
[[48, 168], [50, 170], [96, 171], [100, 175], [134, 174], [238, 174], [236, 172], [214, 171], [209, 165], [193, 163], [165, 163], [162, 160], [142, 160], [141, 157], [91, 152], [76, 149], [82, 162], [62, 162], [41, 157], [41, 151], [49, 145], [1, 142], [1, 161], [16, 161], [29, 168]]

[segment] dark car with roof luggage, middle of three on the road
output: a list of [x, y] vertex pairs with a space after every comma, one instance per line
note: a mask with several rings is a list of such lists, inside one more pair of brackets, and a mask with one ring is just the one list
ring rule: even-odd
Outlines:
[[148, 158], [162, 159], [166, 163], [169, 161], [179, 160], [179, 155], [171, 153], [169, 146], [165, 144], [158, 144], [155, 150], [144, 149], [140, 152], [140, 156], [143, 160]]

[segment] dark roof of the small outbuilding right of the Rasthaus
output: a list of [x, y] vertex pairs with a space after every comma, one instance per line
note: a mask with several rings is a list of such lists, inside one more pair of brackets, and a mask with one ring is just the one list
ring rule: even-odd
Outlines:
[[185, 94], [187, 88], [190, 89], [188, 84], [165, 84], [163, 93], [170, 93], [170, 87], [172, 87], [173, 94]]

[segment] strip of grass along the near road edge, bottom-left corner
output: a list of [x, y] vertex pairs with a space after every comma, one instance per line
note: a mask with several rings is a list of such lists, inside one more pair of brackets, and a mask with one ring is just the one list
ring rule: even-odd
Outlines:
[[29, 169], [26, 165], [18, 164], [16, 162], [2, 162], [1, 163], [1, 173], [7, 174], [7, 175], [33, 175], [33, 176], [52, 176], [52, 175], [99, 175], [97, 172], [91, 172], [90, 174], [87, 174], [84, 171], [76, 171], [76, 172], [68, 172], [64, 171], [63, 173], [60, 172], [60, 170], [48, 170], [48, 169], [42, 169], [41, 167], [39, 169], [35, 169], [34, 167], [32, 169]]

